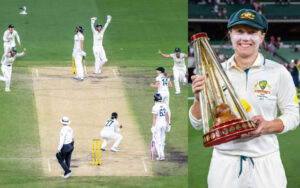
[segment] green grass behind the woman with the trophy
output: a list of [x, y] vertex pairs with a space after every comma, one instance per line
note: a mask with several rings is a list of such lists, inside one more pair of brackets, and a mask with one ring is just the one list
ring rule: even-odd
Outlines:
[[[193, 97], [191, 86], [189, 86], [189, 96]], [[189, 106], [193, 101], [189, 101]], [[189, 122], [188, 140], [189, 140], [189, 164], [188, 164], [188, 182], [189, 187], [206, 188], [207, 175], [212, 156], [213, 148], [205, 148], [202, 142], [203, 131], [196, 131]], [[288, 188], [300, 187], [300, 128], [282, 135], [278, 135], [281, 160], [285, 169]]]

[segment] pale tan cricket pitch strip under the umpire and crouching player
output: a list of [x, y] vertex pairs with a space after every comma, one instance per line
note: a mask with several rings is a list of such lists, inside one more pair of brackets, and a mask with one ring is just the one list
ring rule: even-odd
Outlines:
[[[71, 170], [74, 176], [152, 176], [150, 154], [125, 96], [117, 67], [105, 67], [100, 75], [90, 74], [83, 82], [72, 79], [71, 67], [32, 69], [38, 114], [40, 148], [46, 176], [60, 176], [63, 170], [55, 153], [62, 128], [59, 120], [68, 116], [74, 130], [75, 149]], [[93, 67], [88, 67], [93, 72]], [[92, 166], [92, 140], [112, 112], [118, 112], [123, 125], [120, 152], [102, 153], [102, 165]]]

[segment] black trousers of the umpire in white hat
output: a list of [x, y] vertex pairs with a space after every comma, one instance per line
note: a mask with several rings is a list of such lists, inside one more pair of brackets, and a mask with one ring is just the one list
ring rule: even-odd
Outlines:
[[58, 160], [60, 166], [64, 169], [65, 174], [71, 172], [70, 164], [71, 164], [71, 156], [74, 150], [74, 142], [71, 144], [64, 144], [62, 149], [60, 150], [61, 159]]

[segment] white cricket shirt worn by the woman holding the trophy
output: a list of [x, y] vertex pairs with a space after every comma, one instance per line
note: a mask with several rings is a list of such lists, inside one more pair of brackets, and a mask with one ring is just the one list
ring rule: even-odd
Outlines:
[[[281, 119], [285, 133], [299, 124], [299, 105], [293, 79], [286, 68], [267, 60], [259, 53], [248, 71], [239, 69], [232, 56], [223, 63], [223, 68], [240, 100], [245, 100], [251, 108], [249, 117], [261, 115], [265, 120]], [[226, 93], [225, 93], [226, 94]], [[236, 112], [230, 105], [232, 112]], [[278, 111], [281, 115], [277, 117]], [[189, 112], [195, 129], [202, 128], [201, 121]], [[239, 139], [215, 146], [218, 151], [229, 155], [259, 157], [279, 150], [276, 134], [266, 134], [252, 139]]]

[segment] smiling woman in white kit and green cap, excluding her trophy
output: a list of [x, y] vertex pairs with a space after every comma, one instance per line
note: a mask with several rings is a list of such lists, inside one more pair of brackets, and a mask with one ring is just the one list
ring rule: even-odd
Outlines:
[[[227, 28], [234, 55], [222, 66], [257, 129], [241, 139], [214, 146], [208, 187], [286, 188], [277, 134], [294, 130], [299, 124], [293, 79], [284, 66], [259, 53], [268, 29], [263, 15], [241, 9], [230, 16]], [[204, 77], [197, 75], [192, 80], [195, 99], [189, 117], [194, 128], [200, 130], [199, 92], [204, 87]], [[235, 105], [230, 106], [235, 112]]]

